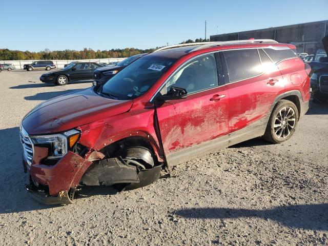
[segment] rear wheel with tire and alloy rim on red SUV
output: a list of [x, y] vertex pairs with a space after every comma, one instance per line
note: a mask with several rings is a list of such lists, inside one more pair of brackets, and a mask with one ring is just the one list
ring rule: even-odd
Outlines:
[[290, 139], [298, 122], [298, 110], [292, 101], [279, 100], [270, 115], [263, 138], [274, 144]]

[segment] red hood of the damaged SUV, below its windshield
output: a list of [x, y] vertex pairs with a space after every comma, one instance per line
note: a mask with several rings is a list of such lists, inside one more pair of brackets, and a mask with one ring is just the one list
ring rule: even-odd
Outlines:
[[22, 126], [30, 135], [62, 132], [125, 113], [132, 104], [133, 100], [108, 99], [88, 88], [39, 104], [24, 117]]

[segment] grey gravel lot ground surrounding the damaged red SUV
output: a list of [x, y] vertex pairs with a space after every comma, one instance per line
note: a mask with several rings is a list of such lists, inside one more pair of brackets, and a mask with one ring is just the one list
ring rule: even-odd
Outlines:
[[75, 203], [31, 199], [18, 127], [38, 103], [91, 83], [40, 83], [45, 71], [0, 73], [0, 245], [328, 245], [328, 104], [311, 103], [281, 145], [258, 138], [115, 194], [84, 188]]

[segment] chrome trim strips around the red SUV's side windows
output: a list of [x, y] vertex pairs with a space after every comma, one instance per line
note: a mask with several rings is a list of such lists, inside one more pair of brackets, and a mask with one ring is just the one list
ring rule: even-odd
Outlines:
[[[266, 49], [272, 49], [273, 46], [268, 46], [268, 47], [238, 48], [238, 49], [232, 49], [232, 48], [229, 49], [229, 48], [227, 48], [227, 49], [223, 49], [223, 50], [209, 51], [209, 52], [204, 52], [204, 53], [201, 53], [201, 54], [195, 55], [195, 56], [191, 57], [190, 59], [184, 61], [182, 64], [180, 64], [180, 66], [177, 67], [177, 68], [175, 69], [175, 71], [174, 71], [172, 74], [170, 74], [170, 76], [169, 76], [169, 77], [163, 82], [163, 84], [162, 84], [162, 85], [156, 90], [156, 92], [154, 93], [154, 95], [150, 98], [149, 102], [150, 102], [150, 103], [154, 103], [153, 100], [154, 100], [155, 96], [157, 95], [158, 92], [160, 92], [160, 91], [163, 89], [163, 87], [165, 86], [165, 84], [167, 83], [167, 81], [168, 81], [168, 80], [169, 80], [169, 79], [175, 74], [176, 71], [178, 71], [182, 66], [186, 65], [189, 61], [191, 61], [191, 60], [194, 59], [194, 58], [198, 58], [198, 57], [200, 57], [200, 56], [202, 56], [202, 55], [213, 54], [213, 53], [218, 53], [218, 52], [223, 52], [223, 51], [230, 51], [230, 50], [251, 50], [251, 49], [257, 49], [257, 50], [258, 50], [258, 49], [263, 49], [263, 48], [266, 48]], [[282, 47], [282, 48], [284, 48], [284, 49], [290, 49], [289, 47]], [[264, 51], [264, 50], [263, 50], [263, 51]], [[258, 52], [258, 51], [257, 51], [257, 52]], [[264, 52], [265, 52], [265, 51], [264, 51]], [[267, 54], [267, 52], [265, 52], [265, 54]], [[268, 54], [267, 54], [267, 55], [268, 55]], [[271, 59], [271, 57], [270, 57], [269, 55], [268, 55], [268, 57], [269, 57], [270, 60], [272, 61], [272, 59]], [[259, 55], [259, 58], [260, 58], [260, 55]], [[294, 58], [296, 58], [296, 57], [294, 57]], [[284, 59], [284, 60], [294, 59], [294, 58], [287, 58], [287, 59]], [[261, 59], [261, 58], [260, 58], [260, 59]], [[283, 60], [281, 60], [281, 61], [283, 61]], [[278, 63], [280, 63], [281, 61], [278, 61]], [[275, 65], [278, 64], [278, 63], [274, 63], [273, 61], [272, 61], [272, 63], [275, 64]], [[230, 82], [230, 83], [228, 83], [228, 84], [218, 85], [218, 86], [216, 86], [216, 87], [212, 87], [212, 88], [209, 88], [209, 89], [206, 89], [206, 90], [202, 90], [202, 91], [212, 90], [212, 89], [214, 89], [214, 88], [218, 88], [218, 87], [221, 87], [221, 86], [226, 86], [226, 85], [230, 85], [230, 84], [233, 84], [233, 83], [237, 83], [237, 82], [243, 81], [243, 80], [245, 80], [245, 79], [255, 78], [255, 77], [261, 76], [262, 74], [264, 74], [264, 73], [262, 72], [262, 73], [260, 73], [260, 74], [258, 74], [258, 75], [256, 75], [256, 76], [253, 76], [253, 77], [243, 78], [243, 79], [240, 79], [240, 80], [237, 80], [237, 81]], [[195, 94], [195, 93], [199, 93], [199, 92], [202, 92], [202, 91], [193, 92], [193, 93], [187, 94], [187, 96], [188, 96], [188, 95], [193, 95], [193, 94]]]

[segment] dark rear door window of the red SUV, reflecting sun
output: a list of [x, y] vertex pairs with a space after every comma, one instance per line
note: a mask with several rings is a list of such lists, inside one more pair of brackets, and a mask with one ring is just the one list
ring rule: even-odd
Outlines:
[[251, 78], [262, 73], [257, 49], [223, 51], [229, 82]]

